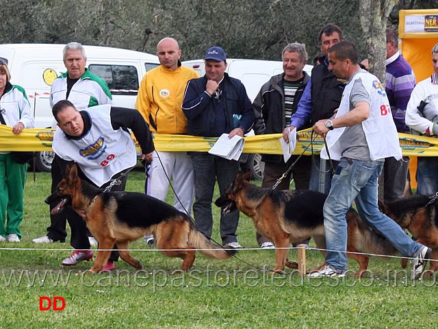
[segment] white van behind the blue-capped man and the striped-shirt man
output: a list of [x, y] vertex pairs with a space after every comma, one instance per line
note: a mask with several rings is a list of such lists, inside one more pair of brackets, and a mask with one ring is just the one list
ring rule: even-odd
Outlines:
[[[204, 60], [186, 60], [182, 62], [184, 66], [194, 69], [200, 77], [205, 75]], [[306, 64], [304, 71], [311, 75], [312, 65]], [[246, 88], [246, 93], [251, 101], [260, 91], [261, 86], [270, 80], [270, 77], [283, 73], [283, 62], [278, 60], [242, 60], [237, 58], [227, 58], [227, 69], [225, 70], [230, 77], [235, 77], [242, 81]]]

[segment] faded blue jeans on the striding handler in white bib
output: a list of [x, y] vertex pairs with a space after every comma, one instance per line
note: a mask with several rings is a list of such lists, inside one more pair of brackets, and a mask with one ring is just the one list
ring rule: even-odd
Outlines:
[[343, 271], [347, 267], [348, 208], [356, 201], [357, 211], [368, 226], [376, 229], [400, 254], [415, 257], [422, 245], [413, 241], [398, 224], [378, 210], [378, 176], [383, 162], [360, 161], [342, 158], [333, 176], [331, 190], [324, 204], [324, 230], [326, 234], [326, 262]]

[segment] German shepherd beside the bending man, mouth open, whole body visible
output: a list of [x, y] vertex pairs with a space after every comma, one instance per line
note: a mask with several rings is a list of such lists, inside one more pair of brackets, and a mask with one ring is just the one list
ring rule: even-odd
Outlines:
[[[194, 263], [194, 249], [211, 258], [226, 259], [235, 254], [231, 247], [214, 245], [196, 230], [190, 217], [155, 197], [134, 192], [104, 192], [81, 180], [74, 164], [67, 167], [66, 178], [57, 185], [55, 193], [46, 203], [60, 204], [55, 209], [70, 205], [75, 210], [85, 210], [88, 229], [99, 241], [99, 249], [112, 249], [116, 243], [120, 257], [136, 269], [142, 264], [129, 255], [129, 243], [145, 234], [153, 234], [158, 249], [168, 257], [183, 259], [182, 271]], [[94, 266], [89, 270], [99, 273], [110, 258], [110, 251], [97, 253]]]

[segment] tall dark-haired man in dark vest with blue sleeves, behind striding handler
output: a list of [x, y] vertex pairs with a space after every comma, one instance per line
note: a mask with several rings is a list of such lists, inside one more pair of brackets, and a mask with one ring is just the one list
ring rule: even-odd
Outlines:
[[[320, 119], [329, 119], [333, 116], [335, 110], [341, 103], [342, 93], [347, 81], [336, 77], [332, 71], [329, 70], [329, 60], [327, 54], [331, 46], [337, 42], [342, 41], [342, 29], [335, 24], [328, 24], [320, 30], [318, 34], [318, 45], [322, 53], [324, 53], [324, 60], [322, 64], [313, 67], [312, 76], [307, 84], [298, 109], [291, 119], [290, 127], [287, 129], [302, 130], [307, 127], [310, 120], [310, 126], [313, 126]], [[283, 132], [283, 137], [287, 141], [287, 132]], [[320, 156], [315, 156], [316, 167], [312, 167], [311, 179], [309, 188], [313, 191], [320, 191], [329, 194], [331, 186], [332, 175], [330, 172], [320, 173], [329, 169], [326, 160], [320, 160]], [[337, 165], [334, 164], [335, 166]]]

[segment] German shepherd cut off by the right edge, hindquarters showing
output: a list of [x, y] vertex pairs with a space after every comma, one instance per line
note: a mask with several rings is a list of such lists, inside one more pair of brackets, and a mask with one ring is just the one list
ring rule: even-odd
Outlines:
[[[418, 243], [432, 248], [431, 259], [438, 259], [438, 200], [414, 194], [388, 204], [379, 201], [378, 208], [402, 229], [411, 232]], [[403, 258], [402, 267], [406, 264], [407, 258]], [[438, 261], [430, 261], [430, 268], [424, 276], [431, 276], [437, 269]]]

